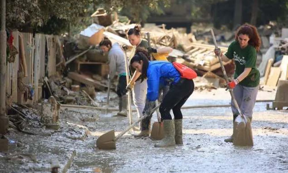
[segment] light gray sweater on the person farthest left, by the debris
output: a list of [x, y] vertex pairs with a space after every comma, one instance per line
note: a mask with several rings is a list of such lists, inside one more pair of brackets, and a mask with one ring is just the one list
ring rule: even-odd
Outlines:
[[114, 43], [108, 53], [109, 74], [113, 79], [117, 74], [125, 73], [125, 55], [118, 43]]

